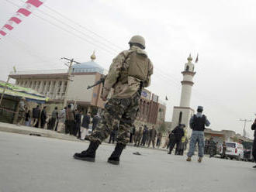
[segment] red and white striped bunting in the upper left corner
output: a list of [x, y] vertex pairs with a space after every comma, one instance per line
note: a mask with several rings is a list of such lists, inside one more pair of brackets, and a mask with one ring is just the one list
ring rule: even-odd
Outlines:
[[0, 39], [12, 31], [23, 18], [28, 17], [34, 9], [39, 8], [45, 0], [27, 0], [24, 5], [0, 29]]

